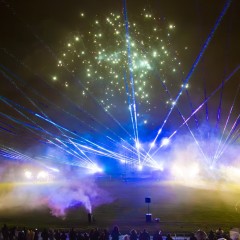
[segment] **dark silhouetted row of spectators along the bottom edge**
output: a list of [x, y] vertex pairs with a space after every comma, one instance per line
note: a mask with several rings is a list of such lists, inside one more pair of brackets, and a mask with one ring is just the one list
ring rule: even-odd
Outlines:
[[[8, 227], [4, 224], [1, 228], [0, 240], [175, 240], [170, 233], [163, 234], [161, 230], [150, 234], [146, 229], [138, 232], [132, 229], [129, 233], [122, 234], [118, 226], [114, 226], [112, 231], [108, 229], [92, 228], [89, 231], [77, 229], [29, 229]], [[179, 239], [179, 238], [178, 238]], [[208, 234], [198, 230], [196, 233], [189, 233], [182, 240], [237, 240], [231, 239], [228, 233], [221, 228], [216, 231], [211, 230]]]

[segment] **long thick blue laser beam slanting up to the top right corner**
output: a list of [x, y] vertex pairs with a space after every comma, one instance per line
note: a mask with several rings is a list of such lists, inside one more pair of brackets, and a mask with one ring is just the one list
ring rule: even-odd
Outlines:
[[[224, 5], [224, 8], [223, 8], [223, 10], [222, 10], [222, 12], [221, 12], [221, 14], [220, 14], [220, 16], [217, 18], [217, 21], [216, 21], [213, 29], [211, 30], [210, 34], [208, 35], [207, 40], [205, 41], [205, 43], [204, 43], [204, 45], [203, 45], [203, 47], [202, 47], [199, 55], [197, 56], [196, 60], [194, 61], [193, 66], [191, 67], [188, 75], [186, 76], [186, 78], [185, 78], [185, 80], [184, 80], [184, 82], [183, 82], [183, 86], [181, 87], [181, 89], [180, 89], [177, 97], [176, 97], [175, 100], [174, 100], [174, 103], [175, 103], [175, 104], [172, 105], [172, 107], [171, 107], [170, 111], [168, 112], [165, 120], [163, 121], [162, 126], [159, 128], [158, 133], [162, 131], [163, 127], [164, 127], [165, 124], [167, 123], [167, 120], [169, 119], [171, 113], [173, 112], [174, 107], [177, 105], [178, 100], [179, 100], [180, 96], [182, 95], [182, 92], [183, 92], [184, 89], [186, 88], [186, 85], [188, 84], [188, 82], [189, 82], [189, 80], [190, 80], [190, 78], [191, 78], [194, 70], [196, 69], [198, 63], [199, 63], [200, 60], [202, 59], [203, 54], [205, 53], [205, 51], [206, 51], [209, 43], [211, 42], [211, 40], [212, 40], [212, 38], [213, 38], [216, 30], [218, 29], [218, 26], [220, 25], [220, 23], [221, 23], [224, 15], [226, 14], [226, 12], [227, 12], [227, 10], [228, 10], [231, 2], [232, 2], [232, 0], [226, 1], [225, 5]], [[221, 85], [221, 86], [222, 86], [222, 85]], [[154, 142], [157, 140], [157, 138], [158, 138], [158, 136], [159, 136], [158, 133], [157, 133], [156, 137], [154, 138]], [[150, 151], [151, 151], [151, 149], [149, 150], [149, 152], [150, 152]]]

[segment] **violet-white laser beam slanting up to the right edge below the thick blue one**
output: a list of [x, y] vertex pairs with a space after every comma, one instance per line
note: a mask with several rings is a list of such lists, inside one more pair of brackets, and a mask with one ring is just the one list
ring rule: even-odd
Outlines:
[[[239, 71], [240, 69], [240, 65], [238, 65], [229, 75], [228, 77], [225, 79], [225, 84]], [[209, 99], [214, 96], [216, 94], [216, 92], [219, 91], [219, 89], [221, 89], [222, 87], [222, 83], [195, 109], [195, 111], [192, 112], [192, 114], [185, 120], [185, 122], [183, 122], [178, 128], [177, 130], [175, 130], [168, 138], [171, 139], [178, 131], [180, 128], [182, 128], [191, 118], [194, 114], [196, 114], [208, 101]], [[152, 156], [154, 156], [158, 151], [159, 151], [160, 147], [153, 153], [151, 154]]]

